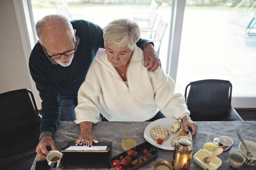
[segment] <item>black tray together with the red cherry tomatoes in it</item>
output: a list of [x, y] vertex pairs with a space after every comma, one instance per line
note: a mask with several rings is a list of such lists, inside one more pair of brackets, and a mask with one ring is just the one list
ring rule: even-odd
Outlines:
[[110, 163], [116, 170], [135, 170], [157, 159], [158, 154], [157, 148], [146, 141], [113, 157]]

